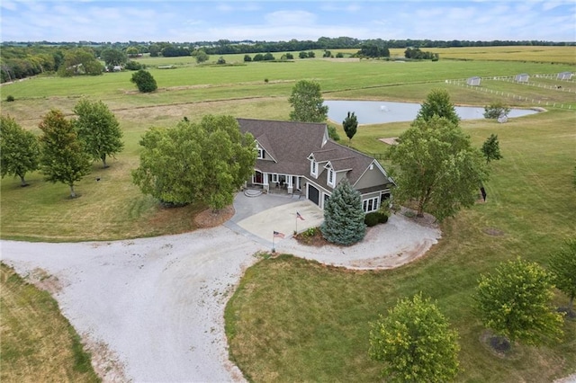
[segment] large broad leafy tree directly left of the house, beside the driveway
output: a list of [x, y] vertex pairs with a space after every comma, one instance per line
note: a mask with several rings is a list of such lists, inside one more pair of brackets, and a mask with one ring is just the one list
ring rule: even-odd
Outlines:
[[151, 129], [141, 139], [140, 165], [132, 178], [158, 200], [183, 205], [202, 202], [211, 209], [232, 203], [254, 171], [256, 147], [231, 116], [183, 120], [172, 129]]

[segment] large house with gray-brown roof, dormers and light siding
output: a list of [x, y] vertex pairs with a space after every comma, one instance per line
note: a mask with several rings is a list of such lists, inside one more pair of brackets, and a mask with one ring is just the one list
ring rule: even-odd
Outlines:
[[329, 139], [326, 124], [238, 119], [256, 139], [257, 162], [249, 184], [266, 191], [298, 193], [320, 209], [340, 180], [360, 192], [365, 212], [380, 208], [394, 185], [383, 166]]

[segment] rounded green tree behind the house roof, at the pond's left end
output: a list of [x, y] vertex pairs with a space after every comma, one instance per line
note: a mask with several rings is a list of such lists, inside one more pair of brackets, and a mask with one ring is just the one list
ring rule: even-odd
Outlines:
[[320, 84], [301, 80], [294, 85], [288, 102], [293, 107], [290, 120], [302, 122], [324, 122], [328, 116], [328, 106], [320, 93]]

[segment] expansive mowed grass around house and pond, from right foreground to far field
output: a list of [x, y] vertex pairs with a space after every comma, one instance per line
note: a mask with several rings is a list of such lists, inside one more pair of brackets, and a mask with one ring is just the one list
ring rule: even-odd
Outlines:
[[[518, 347], [514, 357], [501, 359], [483, 348], [482, 326], [475, 319], [472, 301], [480, 273], [518, 255], [545, 264], [547, 254], [576, 233], [574, 83], [546, 80], [562, 84], [560, 91], [482, 82], [482, 89], [523, 95], [522, 100], [446, 84], [447, 79], [469, 76], [573, 72], [574, 61], [394, 63], [318, 58], [198, 67], [183, 58], [146, 60], [159, 86], [155, 94], [138, 94], [130, 84], [130, 73], [39, 77], [0, 88], [2, 113], [13, 115], [37, 133], [41, 116], [50, 108], [71, 115], [81, 97], [102, 100], [120, 120], [126, 142], [125, 150], [110, 161], [110, 168], [103, 170], [94, 163], [93, 173], [76, 187], [80, 194], [76, 200], [67, 199], [66, 185], [45, 183], [38, 173], [28, 175], [31, 186], [27, 188], [20, 188], [16, 179], [4, 178], [0, 195], [3, 238], [111, 240], [193, 230], [193, 216], [202, 206], [162, 209], [130, 182], [130, 170], [138, 166], [141, 135], [152, 126], [170, 127], [184, 116], [199, 120], [206, 113], [287, 120], [288, 96], [302, 78], [318, 81], [325, 99], [421, 102], [432, 88], [442, 87], [457, 104], [483, 106], [501, 100], [510, 106], [531, 107], [536, 106], [532, 99], [558, 102], [563, 109], [551, 107], [507, 124], [462, 122], [479, 147], [491, 133], [498, 134], [504, 158], [492, 165], [486, 185], [488, 202], [446, 220], [443, 238], [424, 259], [387, 272], [346, 272], [290, 256], [262, 261], [247, 271], [229, 302], [226, 325], [231, 355], [254, 381], [374, 381], [379, 365], [367, 356], [369, 323], [397, 298], [423, 291], [438, 300], [461, 334], [459, 380], [539, 382], [576, 371], [573, 322], [566, 325], [562, 343]], [[175, 64], [176, 68], [157, 69], [155, 63]], [[8, 94], [16, 101], [5, 102]], [[528, 96], [530, 101], [525, 100]], [[352, 146], [383, 153], [386, 146], [378, 138], [396, 137], [409, 125], [360, 127]], [[341, 138], [346, 138], [338, 129]], [[96, 177], [101, 181], [96, 182]], [[502, 235], [487, 234], [491, 229]], [[566, 301], [558, 293], [556, 303]]]

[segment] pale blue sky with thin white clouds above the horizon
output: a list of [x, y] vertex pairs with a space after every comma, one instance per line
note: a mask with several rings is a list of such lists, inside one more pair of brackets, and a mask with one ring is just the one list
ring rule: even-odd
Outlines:
[[575, 0], [1, 0], [2, 41], [576, 41]]

